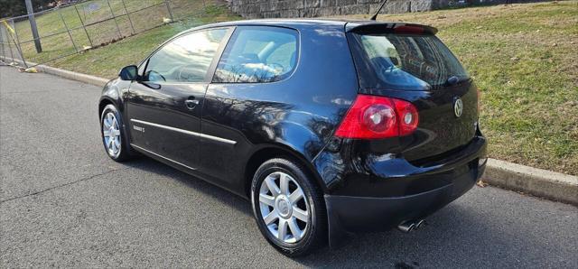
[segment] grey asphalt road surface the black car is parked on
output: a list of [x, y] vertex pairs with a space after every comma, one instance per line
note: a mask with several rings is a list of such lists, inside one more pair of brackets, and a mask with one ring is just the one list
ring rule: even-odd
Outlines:
[[578, 268], [578, 209], [475, 187], [412, 234], [277, 253], [250, 206], [159, 162], [108, 159], [100, 88], [0, 67], [0, 267]]

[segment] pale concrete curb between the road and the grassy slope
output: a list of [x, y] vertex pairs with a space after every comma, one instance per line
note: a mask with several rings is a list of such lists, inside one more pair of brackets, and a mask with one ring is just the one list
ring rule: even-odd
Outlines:
[[[39, 65], [37, 70], [65, 79], [104, 87], [108, 79]], [[537, 169], [513, 162], [488, 159], [486, 172], [481, 177], [488, 182], [508, 190], [522, 191], [536, 197], [553, 199], [578, 206], [578, 177], [559, 172]]]

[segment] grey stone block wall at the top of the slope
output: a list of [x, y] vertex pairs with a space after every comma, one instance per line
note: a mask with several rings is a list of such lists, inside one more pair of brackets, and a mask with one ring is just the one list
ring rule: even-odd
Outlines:
[[[388, 0], [382, 13], [428, 11], [454, 5], [491, 5], [525, 0]], [[228, 0], [245, 18], [298, 18], [373, 14], [381, 0]]]

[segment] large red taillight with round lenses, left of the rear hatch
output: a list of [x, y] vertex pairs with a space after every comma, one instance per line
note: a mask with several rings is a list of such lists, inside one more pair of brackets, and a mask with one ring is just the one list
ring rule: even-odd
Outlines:
[[359, 95], [335, 135], [362, 139], [409, 135], [418, 122], [417, 109], [410, 102]]

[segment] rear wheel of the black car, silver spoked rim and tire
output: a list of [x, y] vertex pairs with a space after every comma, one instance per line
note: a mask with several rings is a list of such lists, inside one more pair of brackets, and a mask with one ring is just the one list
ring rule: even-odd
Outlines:
[[[285, 191], [281, 186], [282, 177], [285, 182], [289, 182]], [[269, 187], [271, 181], [278, 188], [273, 188], [277, 191], [276, 196]], [[288, 193], [291, 195], [286, 195]], [[300, 196], [299, 193], [302, 193], [302, 198], [294, 199]], [[327, 212], [322, 191], [297, 162], [276, 158], [261, 164], [251, 184], [251, 202], [259, 230], [269, 244], [284, 255], [309, 255], [327, 244]], [[307, 213], [306, 222], [302, 220], [303, 211]], [[267, 218], [269, 225], [264, 215], [274, 216]], [[280, 232], [283, 230], [280, 228], [282, 222], [286, 223], [283, 224], [286, 236]], [[283, 240], [279, 234], [283, 235]]]

